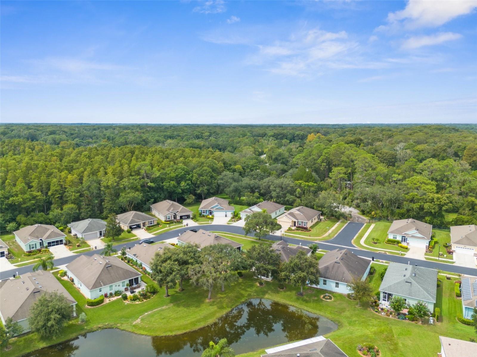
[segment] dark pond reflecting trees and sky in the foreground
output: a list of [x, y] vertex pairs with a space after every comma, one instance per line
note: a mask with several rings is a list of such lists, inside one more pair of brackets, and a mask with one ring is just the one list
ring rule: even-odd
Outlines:
[[176, 336], [150, 337], [106, 329], [39, 349], [30, 357], [200, 356], [209, 341], [227, 338], [236, 354], [325, 335], [337, 329], [325, 317], [267, 299], [251, 299], [211, 325]]

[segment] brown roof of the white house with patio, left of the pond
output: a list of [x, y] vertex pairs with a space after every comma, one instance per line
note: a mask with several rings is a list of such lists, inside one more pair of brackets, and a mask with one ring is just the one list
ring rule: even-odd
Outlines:
[[92, 257], [82, 255], [74, 259], [66, 268], [88, 290], [101, 288], [142, 275], [119, 258], [101, 257], [99, 254], [94, 254]]

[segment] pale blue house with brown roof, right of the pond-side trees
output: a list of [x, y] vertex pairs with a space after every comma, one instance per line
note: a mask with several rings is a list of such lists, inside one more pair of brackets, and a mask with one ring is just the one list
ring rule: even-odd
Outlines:
[[320, 268], [320, 285], [313, 285], [313, 287], [349, 294], [348, 284], [353, 279], [364, 280], [367, 278], [371, 260], [358, 257], [348, 249], [334, 249], [321, 257], [318, 266]]

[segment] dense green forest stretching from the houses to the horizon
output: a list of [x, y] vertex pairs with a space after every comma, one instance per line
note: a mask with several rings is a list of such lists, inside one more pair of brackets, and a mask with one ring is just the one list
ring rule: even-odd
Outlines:
[[2, 125], [0, 229], [225, 192], [339, 215], [477, 222], [471, 125]]

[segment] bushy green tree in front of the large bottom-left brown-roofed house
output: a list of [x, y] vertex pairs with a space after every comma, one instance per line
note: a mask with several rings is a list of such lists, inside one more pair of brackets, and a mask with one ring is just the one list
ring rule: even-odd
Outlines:
[[40, 337], [56, 337], [71, 318], [73, 307], [64, 295], [53, 291], [42, 294], [30, 308], [28, 323]]

